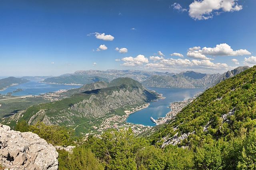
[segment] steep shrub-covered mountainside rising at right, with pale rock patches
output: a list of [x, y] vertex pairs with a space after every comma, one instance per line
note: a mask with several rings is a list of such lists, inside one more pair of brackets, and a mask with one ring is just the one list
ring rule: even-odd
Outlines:
[[255, 129], [255, 99], [256, 66], [207, 89], [150, 138], [162, 147], [202, 146], [211, 140], [242, 138]]

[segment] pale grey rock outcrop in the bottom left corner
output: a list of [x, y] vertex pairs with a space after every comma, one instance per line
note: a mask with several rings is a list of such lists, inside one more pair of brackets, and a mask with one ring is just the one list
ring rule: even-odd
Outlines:
[[58, 170], [58, 152], [32, 132], [0, 124], [0, 164], [10, 170]]

